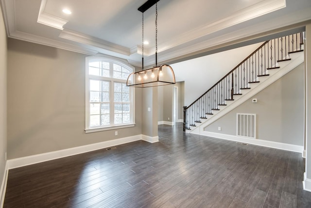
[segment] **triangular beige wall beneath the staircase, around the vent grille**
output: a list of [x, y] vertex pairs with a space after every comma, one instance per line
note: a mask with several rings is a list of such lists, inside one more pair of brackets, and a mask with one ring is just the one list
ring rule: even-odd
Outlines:
[[[208, 132], [236, 135], [236, 113], [256, 113], [257, 138], [303, 146], [304, 65], [276, 80], [252, 99], [205, 128]], [[218, 131], [218, 127], [222, 131]]]

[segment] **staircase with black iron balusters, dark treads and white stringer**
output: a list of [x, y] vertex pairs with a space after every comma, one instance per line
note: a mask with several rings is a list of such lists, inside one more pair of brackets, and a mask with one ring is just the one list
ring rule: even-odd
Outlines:
[[184, 131], [201, 134], [209, 124], [303, 61], [303, 33], [264, 42], [206, 93], [184, 107]]

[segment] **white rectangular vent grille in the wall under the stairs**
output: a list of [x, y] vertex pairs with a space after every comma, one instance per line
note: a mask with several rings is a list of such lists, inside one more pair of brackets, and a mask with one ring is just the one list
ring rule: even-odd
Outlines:
[[256, 114], [237, 113], [237, 136], [256, 139]]

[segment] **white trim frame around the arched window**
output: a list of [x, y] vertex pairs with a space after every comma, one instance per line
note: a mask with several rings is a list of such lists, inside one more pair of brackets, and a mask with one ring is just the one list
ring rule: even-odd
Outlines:
[[[85, 68], [85, 132], [86, 133], [90, 133], [90, 132], [100, 132], [100, 131], [108, 131], [108, 130], [114, 130], [114, 129], [121, 129], [121, 128], [129, 128], [129, 127], [135, 127], [135, 89], [131, 88], [130, 89], [130, 97], [131, 97], [131, 101], [130, 101], [130, 109], [132, 109], [132, 123], [128, 123], [128, 124], [120, 124], [120, 125], [110, 125], [110, 126], [106, 126], [106, 127], [94, 127], [94, 128], [89, 128], [89, 79], [92, 79], [92, 75], [88, 74], [88, 63], [90, 61], [108, 61], [108, 62], [116, 62], [126, 68], [130, 68], [132, 69], [132, 72], [135, 72], [135, 67], [133, 67], [132, 65], [128, 64], [125, 60], [121, 59], [121, 58], [117, 58], [117, 57], [110, 57], [110, 56], [106, 56], [106, 55], [96, 55], [96, 56], [92, 56], [92, 57], [86, 57], [86, 68]], [[98, 79], [98, 76], [96, 76], [96, 78]], [[123, 79], [117, 79], [117, 78], [109, 78], [110, 80], [113, 81], [124, 81]], [[100, 77], [99, 80], [105, 80], [105, 77]], [[113, 102], [110, 102], [113, 103]]]

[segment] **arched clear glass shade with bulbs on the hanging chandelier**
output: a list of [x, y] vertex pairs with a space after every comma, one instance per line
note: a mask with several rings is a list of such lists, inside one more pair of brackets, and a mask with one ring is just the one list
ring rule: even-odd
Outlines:
[[[152, 73], [154, 73], [155, 76], [152, 76]], [[160, 73], [162, 74], [161, 76]], [[144, 76], [144, 78], [142, 79], [141, 76]], [[128, 76], [126, 82], [126, 86], [141, 88], [169, 84], [175, 84], [175, 75], [172, 67], [167, 64], [132, 73]]]

